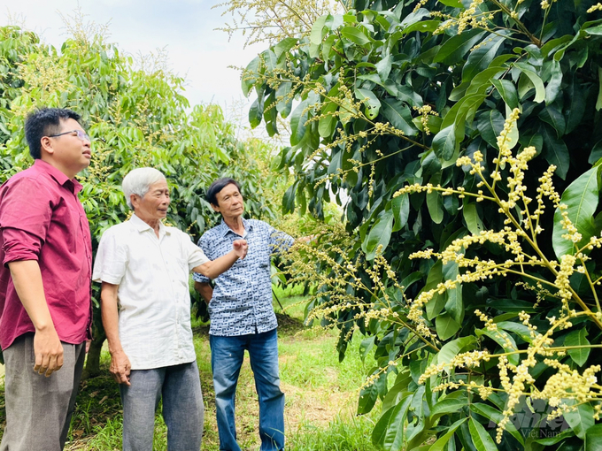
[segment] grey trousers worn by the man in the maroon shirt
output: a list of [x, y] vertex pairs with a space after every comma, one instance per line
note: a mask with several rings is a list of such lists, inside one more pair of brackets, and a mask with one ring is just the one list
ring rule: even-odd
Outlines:
[[86, 357], [85, 343], [63, 342], [63, 367], [49, 378], [34, 372], [34, 334], [4, 349], [6, 429], [0, 451], [62, 451]]

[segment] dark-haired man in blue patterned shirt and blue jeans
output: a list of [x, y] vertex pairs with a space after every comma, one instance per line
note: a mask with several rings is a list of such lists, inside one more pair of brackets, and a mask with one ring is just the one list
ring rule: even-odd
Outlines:
[[213, 280], [215, 287], [210, 279], [194, 274], [195, 288], [209, 302], [220, 451], [241, 451], [236, 443], [235, 391], [245, 349], [259, 395], [261, 451], [282, 451], [284, 394], [278, 374], [278, 323], [272, 308], [270, 257], [289, 248], [294, 240], [263, 221], [244, 219], [243, 196], [233, 179], [216, 180], [206, 197], [222, 221], [198, 241], [205, 255], [212, 260], [222, 256], [241, 238], [249, 246], [244, 260]]

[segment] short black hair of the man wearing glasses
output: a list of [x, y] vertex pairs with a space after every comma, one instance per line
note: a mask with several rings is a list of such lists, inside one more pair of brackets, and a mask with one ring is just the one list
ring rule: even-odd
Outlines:
[[60, 133], [61, 120], [75, 119], [81, 116], [66, 108], [39, 108], [32, 111], [25, 121], [25, 138], [29, 146], [29, 155], [34, 159], [42, 157], [42, 137]]

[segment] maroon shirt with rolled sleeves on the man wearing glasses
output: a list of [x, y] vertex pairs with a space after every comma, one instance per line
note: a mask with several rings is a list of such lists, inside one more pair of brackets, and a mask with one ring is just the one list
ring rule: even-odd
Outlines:
[[8, 264], [37, 260], [58, 338], [80, 344], [91, 322], [92, 244], [81, 184], [42, 161], [0, 187], [0, 346], [35, 332]]

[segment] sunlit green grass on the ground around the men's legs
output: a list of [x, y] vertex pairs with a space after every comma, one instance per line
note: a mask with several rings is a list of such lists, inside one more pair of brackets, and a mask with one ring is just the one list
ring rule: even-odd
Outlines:
[[[277, 302], [282, 391], [286, 395], [285, 424], [288, 451], [373, 451], [370, 436], [377, 412], [355, 417], [359, 386], [367, 367], [353, 340], [343, 363], [338, 361], [336, 333], [303, 325], [302, 288], [277, 289], [285, 314]], [[212, 387], [211, 353], [207, 324], [193, 319], [194, 343], [205, 401], [204, 451], [218, 451]], [[367, 358], [370, 363], [370, 357]], [[122, 410], [117, 384], [109, 377], [110, 357], [103, 352], [104, 376], [82, 383], [66, 450], [121, 449]], [[4, 423], [4, 388], [0, 387], [0, 423]], [[236, 392], [236, 429], [243, 450], [259, 449], [259, 408], [255, 384], [245, 355]], [[0, 432], [1, 433], [1, 432]], [[166, 449], [166, 425], [155, 422], [154, 449]]]

